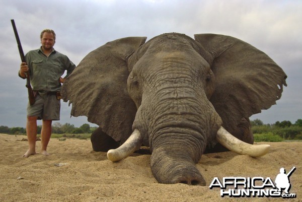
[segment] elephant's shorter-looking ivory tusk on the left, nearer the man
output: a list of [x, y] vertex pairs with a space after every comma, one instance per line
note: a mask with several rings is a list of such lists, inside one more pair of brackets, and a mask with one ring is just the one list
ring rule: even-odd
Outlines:
[[138, 129], [134, 129], [131, 136], [117, 149], [112, 149], [107, 152], [107, 158], [110, 161], [119, 161], [131, 155], [138, 150], [142, 143], [142, 136]]

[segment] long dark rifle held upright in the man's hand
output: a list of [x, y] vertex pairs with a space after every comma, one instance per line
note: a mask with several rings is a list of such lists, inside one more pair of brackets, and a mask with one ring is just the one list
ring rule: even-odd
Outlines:
[[[22, 49], [22, 46], [21, 46], [21, 42], [20, 42], [20, 39], [19, 39], [18, 31], [17, 31], [16, 25], [15, 25], [15, 21], [11, 20], [11, 22], [12, 22], [12, 26], [13, 26], [13, 29], [14, 29], [14, 32], [15, 32], [15, 37], [16, 37], [16, 41], [17, 41], [17, 44], [18, 44], [18, 49], [19, 49], [21, 61], [26, 62], [25, 56], [24, 56], [24, 53], [23, 53], [23, 49]], [[25, 75], [26, 75], [26, 85], [25, 86], [28, 90], [29, 104], [33, 105], [36, 101], [37, 92], [34, 92], [31, 85], [30, 85], [29, 74], [25, 73]]]

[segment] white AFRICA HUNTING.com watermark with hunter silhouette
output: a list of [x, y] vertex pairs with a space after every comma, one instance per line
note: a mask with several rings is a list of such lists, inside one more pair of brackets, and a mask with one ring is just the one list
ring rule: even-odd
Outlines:
[[284, 168], [276, 176], [275, 183], [263, 177], [223, 177], [219, 180], [214, 177], [209, 188], [220, 188], [220, 196], [230, 197], [282, 197], [295, 198], [295, 193], [289, 193], [291, 184], [289, 177], [296, 168], [293, 167], [287, 174]]

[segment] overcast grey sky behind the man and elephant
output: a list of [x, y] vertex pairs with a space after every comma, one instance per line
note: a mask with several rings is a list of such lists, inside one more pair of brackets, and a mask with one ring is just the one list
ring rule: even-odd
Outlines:
[[[282, 97], [262, 113], [264, 123], [302, 118], [302, 1], [0, 1], [0, 125], [26, 125], [27, 89], [18, 77], [20, 56], [11, 25], [24, 52], [40, 47], [40, 32], [56, 32], [54, 48], [76, 65], [90, 51], [118, 38], [178, 32], [230, 35], [267, 53], [287, 74]], [[62, 102], [61, 124], [79, 127], [86, 117], [71, 117]], [[38, 122], [41, 124], [41, 122]], [[91, 124], [94, 125], [94, 124]]]

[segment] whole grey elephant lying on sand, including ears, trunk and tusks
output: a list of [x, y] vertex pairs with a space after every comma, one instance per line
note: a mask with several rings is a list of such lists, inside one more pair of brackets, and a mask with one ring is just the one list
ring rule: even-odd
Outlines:
[[[62, 87], [71, 115], [100, 126], [92, 134], [94, 150], [113, 149], [108, 158], [118, 161], [149, 146], [160, 183], [200, 185], [205, 181], [195, 164], [206, 150], [268, 151], [249, 145], [249, 117], [275, 104], [286, 86], [285, 73], [269, 56], [224, 35], [194, 40], [167, 33], [145, 40], [127, 37], [97, 48]], [[122, 145], [115, 149], [112, 142]]]

